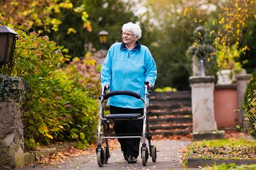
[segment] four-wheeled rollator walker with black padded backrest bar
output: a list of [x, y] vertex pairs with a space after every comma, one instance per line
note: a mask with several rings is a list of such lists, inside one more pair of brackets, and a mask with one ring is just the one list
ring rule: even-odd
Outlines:
[[[106, 93], [106, 87], [103, 86], [101, 89], [101, 95], [99, 96], [100, 100], [100, 109], [99, 109], [99, 125], [98, 125], [98, 144], [96, 148], [97, 154], [97, 162], [100, 167], [104, 166], [105, 163], [108, 163], [110, 158], [109, 151], [109, 143], [108, 139], [114, 138], [140, 138], [141, 139], [141, 159], [143, 166], [146, 166], [148, 155], [152, 157], [152, 162], [156, 162], [157, 160], [157, 148], [155, 145], [151, 145], [152, 133], [150, 132], [150, 123], [149, 123], [149, 114], [151, 111], [148, 111], [148, 100], [150, 96], [150, 88], [148, 86], [149, 82], [144, 82], [144, 98], [141, 97], [140, 94], [135, 93], [133, 91], [127, 90], [116, 90]], [[141, 90], [143, 91], [143, 90]], [[130, 95], [138, 100], [142, 100], [144, 103], [143, 116], [139, 113], [128, 113], [128, 114], [108, 114], [104, 116], [105, 104], [103, 102], [109, 99], [114, 95]], [[143, 119], [143, 129], [142, 134], [125, 134], [129, 136], [125, 136], [124, 134], [108, 134], [107, 131], [110, 128], [109, 120], [132, 120], [132, 119]], [[122, 136], [121, 136], [122, 135]], [[137, 135], [137, 136], [131, 136]], [[138, 136], [140, 135], [140, 136]], [[103, 136], [103, 137], [102, 137]], [[102, 140], [105, 139], [105, 147], [101, 147]], [[148, 147], [150, 152], [148, 153], [148, 148], [146, 145], [146, 139], [148, 140]]]

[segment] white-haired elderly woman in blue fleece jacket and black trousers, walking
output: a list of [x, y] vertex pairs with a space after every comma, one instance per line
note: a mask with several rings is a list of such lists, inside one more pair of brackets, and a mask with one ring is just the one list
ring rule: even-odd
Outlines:
[[[110, 91], [129, 90], [141, 93], [144, 82], [150, 82], [152, 89], [156, 78], [156, 63], [144, 45], [138, 39], [141, 29], [135, 23], [125, 23], [122, 27], [122, 42], [114, 43], [101, 69], [101, 85]], [[143, 90], [142, 90], [143, 91]], [[143, 95], [143, 94], [142, 94]], [[143, 102], [132, 96], [112, 96], [108, 104], [111, 114], [140, 113], [143, 115]], [[143, 120], [116, 120], [114, 130], [116, 134], [141, 134]], [[121, 151], [128, 163], [136, 163], [139, 156], [139, 138], [119, 138]]]

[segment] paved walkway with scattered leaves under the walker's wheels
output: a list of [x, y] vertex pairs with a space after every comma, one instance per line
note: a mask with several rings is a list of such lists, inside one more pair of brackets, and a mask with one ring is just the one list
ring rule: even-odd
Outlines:
[[[148, 142], [146, 140], [146, 142]], [[99, 167], [97, 163], [96, 152], [93, 155], [80, 155], [74, 158], [69, 158], [65, 162], [58, 162], [51, 166], [30, 165], [27, 167], [19, 168], [20, 170], [50, 170], [50, 169], [161, 169], [161, 170], [181, 170], [186, 169], [182, 166], [182, 152], [181, 149], [190, 144], [189, 140], [152, 140], [151, 143], [157, 147], [157, 161], [152, 162], [152, 158], [148, 158], [147, 166], [142, 165], [141, 155], [138, 157], [138, 162], [135, 164], [127, 163], [122, 156], [120, 149], [110, 151], [111, 156], [109, 162]], [[148, 145], [148, 143], [147, 143]], [[111, 146], [110, 146], [111, 147]], [[199, 169], [199, 168], [188, 168]]]

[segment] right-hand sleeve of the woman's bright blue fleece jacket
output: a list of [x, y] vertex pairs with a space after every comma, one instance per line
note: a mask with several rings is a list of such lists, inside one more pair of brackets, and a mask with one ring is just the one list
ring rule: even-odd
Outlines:
[[154, 87], [155, 81], [157, 79], [157, 67], [152, 56], [148, 58], [146, 62], [145, 77], [146, 77], [146, 81], [150, 82]]

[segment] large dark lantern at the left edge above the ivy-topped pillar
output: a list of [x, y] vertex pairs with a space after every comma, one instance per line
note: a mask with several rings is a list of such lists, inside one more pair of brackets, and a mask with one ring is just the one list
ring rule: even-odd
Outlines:
[[10, 27], [0, 26], [0, 68], [6, 64], [11, 67], [16, 35], [18, 34]]

